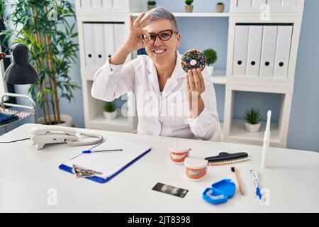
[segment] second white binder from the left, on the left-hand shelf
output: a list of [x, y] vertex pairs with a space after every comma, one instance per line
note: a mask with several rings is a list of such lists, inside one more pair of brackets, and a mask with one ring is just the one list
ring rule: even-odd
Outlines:
[[101, 67], [106, 62], [103, 23], [93, 24], [93, 34], [95, 66]]

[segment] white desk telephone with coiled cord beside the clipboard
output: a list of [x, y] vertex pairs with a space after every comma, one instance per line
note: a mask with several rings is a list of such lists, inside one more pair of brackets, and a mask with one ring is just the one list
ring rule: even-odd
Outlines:
[[[77, 132], [73, 128], [65, 126], [37, 125], [32, 128], [26, 126], [24, 129], [30, 135], [30, 142], [37, 150], [41, 150], [47, 143], [67, 143], [69, 146], [79, 146], [92, 145], [103, 141], [102, 135]], [[77, 133], [79, 133], [79, 135], [93, 137], [96, 139], [80, 141], [76, 135]]]

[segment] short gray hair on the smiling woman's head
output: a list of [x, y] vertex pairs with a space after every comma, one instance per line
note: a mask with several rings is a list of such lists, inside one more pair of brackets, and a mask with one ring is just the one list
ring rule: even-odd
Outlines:
[[148, 18], [144, 26], [147, 26], [147, 24], [151, 23], [152, 21], [167, 19], [171, 23], [173, 30], [179, 33], [179, 26], [175, 16], [162, 6], [157, 6], [156, 8], [151, 9], [147, 12], [147, 14], [150, 14], [150, 18]]

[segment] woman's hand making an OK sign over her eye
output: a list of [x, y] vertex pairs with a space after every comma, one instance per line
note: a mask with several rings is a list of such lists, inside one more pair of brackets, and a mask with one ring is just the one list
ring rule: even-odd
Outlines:
[[[140, 14], [140, 16], [138, 16], [138, 18], [133, 23], [133, 16], [130, 15], [130, 32], [128, 38], [125, 40], [125, 43], [123, 44], [125, 49], [129, 52], [132, 52], [133, 50], [138, 50], [140, 48], [144, 48], [145, 45], [150, 45], [153, 42], [153, 40], [150, 39], [150, 34], [146, 30], [142, 29], [148, 18], [150, 18], [150, 15], [147, 15], [142, 20], [143, 16], [145, 16], [145, 12]], [[146, 35], [147, 42], [142, 40], [142, 35]]]

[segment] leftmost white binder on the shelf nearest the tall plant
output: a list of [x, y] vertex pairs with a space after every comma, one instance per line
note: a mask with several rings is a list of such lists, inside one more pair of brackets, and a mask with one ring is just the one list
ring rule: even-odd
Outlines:
[[83, 33], [84, 33], [85, 66], [95, 67], [94, 43], [92, 43], [92, 40], [94, 40], [93, 24], [83, 23]]

